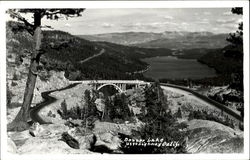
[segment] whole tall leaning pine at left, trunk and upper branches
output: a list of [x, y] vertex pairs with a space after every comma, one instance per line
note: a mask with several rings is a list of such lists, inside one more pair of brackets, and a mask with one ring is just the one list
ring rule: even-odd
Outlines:
[[[24, 99], [22, 107], [15, 117], [15, 119], [8, 125], [8, 131], [23, 131], [28, 129], [28, 121], [30, 120], [29, 112], [30, 105], [33, 99], [33, 92], [38, 75], [38, 66], [40, 57], [44, 52], [41, 50], [42, 45], [42, 18], [49, 20], [58, 20], [60, 18], [78, 17], [84, 9], [9, 9], [7, 13], [14, 19], [22, 22], [23, 26], [19, 30], [25, 29], [34, 36], [34, 49], [31, 55], [31, 62], [29, 66], [28, 79], [26, 81], [26, 88], [24, 92]], [[33, 15], [33, 23], [30, 23], [21, 14], [30, 13]]]

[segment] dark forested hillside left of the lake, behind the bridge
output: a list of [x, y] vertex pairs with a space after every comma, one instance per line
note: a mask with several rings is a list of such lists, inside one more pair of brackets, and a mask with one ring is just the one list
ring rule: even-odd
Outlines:
[[[7, 22], [8, 45], [14, 46], [17, 61], [29, 56], [32, 37], [25, 30], [17, 28], [17, 22]], [[10, 36], [11, 35], [11, 36]], [[104, 50], [103, 54], [81, 63]], [[169, 49], [145, 49], [127, 47], [107, 42], [91, 42], [62, 31], [43, 31], [43, 47], [40, 68], [66, 71], [71, 80], [80, 79], [144, 79], [142, 74], [147, 63], [140, 58], [171, 55]]]

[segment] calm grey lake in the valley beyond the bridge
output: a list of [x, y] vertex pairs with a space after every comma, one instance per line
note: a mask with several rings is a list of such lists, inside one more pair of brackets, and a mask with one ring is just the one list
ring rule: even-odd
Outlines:
[[145, 58], [142, 61], [150, 65], [144, 73], [153, 79], [200, 79], [216, 76], [216, 71], [196, 59], [178, 59], [174, 56]]

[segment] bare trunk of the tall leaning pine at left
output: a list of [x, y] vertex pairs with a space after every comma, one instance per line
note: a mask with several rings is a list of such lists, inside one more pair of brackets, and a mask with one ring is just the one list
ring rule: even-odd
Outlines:
[[27, 122], [30, 119], [30, 105], [33, 99], [33, 93], [38, 73], [37, 67], [39, 65], [41, 56], [42, 30], [41, 30], [41, 14], [39, 12], [34, 13], [34, 25], [35, 25], [35, 32], [34, 32], [35, 50], [31, 55], [23, 104], [14, 121], [11, 122], [10, 125], [8, 125], [8, 130], [22, 131], [28, 129], [29, 127]]

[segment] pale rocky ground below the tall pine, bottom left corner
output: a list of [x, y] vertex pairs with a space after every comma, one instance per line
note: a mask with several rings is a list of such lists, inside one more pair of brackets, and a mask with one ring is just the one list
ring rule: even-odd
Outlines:
[[[18, 154], [89, 154], [91, 142], [93, 141], [93, 134], [86, 136], [79, 136], [76, 139], [80, 144], [80, 149], [74, 149], [70, 147], [67, 143], [60, 140], [62, 139], [62, 134], [65, 131], [69, 131], [70, 128], [63, 124], [48, 124], [41, 125], [44, 129], [42, 133], [49, 134], [39, 134], [39, 136], [33, 137], [30, 135], [29, 131], [23, 132], [9, 132], [9, 139], [16, 144], [10, 143], [9, 151], [15, 151]], [[11, 141], [10, 141], [11, 142]]]

